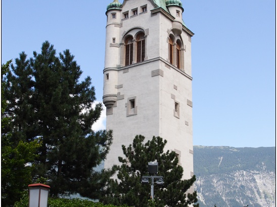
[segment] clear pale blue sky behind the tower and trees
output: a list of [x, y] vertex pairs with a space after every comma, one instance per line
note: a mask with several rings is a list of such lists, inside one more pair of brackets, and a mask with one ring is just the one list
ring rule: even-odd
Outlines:
[[[57, 53], [70, 49], [81, 80], [90, 76], [102, 101], [105, 12], [111, 2], [3, 0], [1, 62], [22, 51], [31, 57], [48, 40]], [[183, 20], [195, 33], [194, 145], [275, 146], [275, 1], [181, 2]]]

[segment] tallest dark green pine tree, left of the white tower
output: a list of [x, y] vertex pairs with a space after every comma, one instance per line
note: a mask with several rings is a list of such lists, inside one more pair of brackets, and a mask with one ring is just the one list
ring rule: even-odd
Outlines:
[[29, 59], [22, 52], [11, 68], [5, 113], [12, 118], [12, 140], [41, 140], [33, 180], [47, 178], [54, 196], [82, 194], [86, 183], [100, 191], [105, 181], [95, 167], [106, 158], [112, 131], [91, 128], [103, 108], [101, 103], [93, 107], [96, 97], [90, 77], [79, 81], [82, 71], [74, 56], [68, 49], [57, 56], [48, 41]]

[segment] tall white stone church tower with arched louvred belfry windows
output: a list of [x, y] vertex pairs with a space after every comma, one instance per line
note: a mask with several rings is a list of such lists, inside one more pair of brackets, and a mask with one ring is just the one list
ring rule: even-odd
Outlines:
[[191, 37], [180, 0], [114, 0], [107, 7], [103, 103], [119, 164], [135, 135], [161, 136], [183, 178], [193, 176]]

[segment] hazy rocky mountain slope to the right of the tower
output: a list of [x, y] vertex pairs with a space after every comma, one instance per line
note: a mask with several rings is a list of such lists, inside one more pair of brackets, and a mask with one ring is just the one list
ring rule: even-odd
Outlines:
[[194, 146], [200, 206], [276, 206], [276, 148]]

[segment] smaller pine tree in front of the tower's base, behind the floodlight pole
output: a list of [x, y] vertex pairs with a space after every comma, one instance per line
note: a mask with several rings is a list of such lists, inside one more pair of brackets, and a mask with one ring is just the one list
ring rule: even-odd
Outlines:
[[[144, 142], [145, 137], [136, 135], [132, 145], [122, 150], [125, 158], [119, 157], [120, 166], [117, 179], [111, 179], [106, 196], [101, 200], [105, 203], [122, 204], [147, 207], [149, 203], [150, 185], [141, 183], [142, 176], [148, 175], [148, 162], [158, 162], [158, 175], [163, 176], [164, 184], [155, 185], [154, 198], [157, 206], [188, 206], [197, 202], [197, 192], [186, 193], [193, 185], [196, 177], [182, 180], [183, 169], [178, 165], [175, 152], [164, 152], [167, 143], [161, 137]], [[144, 144], [145, 143], [145, 144]], [[199, 204], [195, 205], [199, 206]]]

